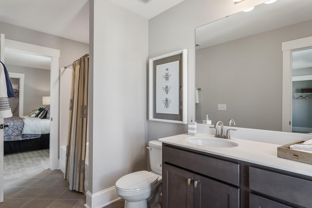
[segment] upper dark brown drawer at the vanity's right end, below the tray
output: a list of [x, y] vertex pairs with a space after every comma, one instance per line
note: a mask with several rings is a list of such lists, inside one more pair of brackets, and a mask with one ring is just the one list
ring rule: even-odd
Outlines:
[[312, 205], [312, 181], [249, 167], [249, 189], [302, 207]]

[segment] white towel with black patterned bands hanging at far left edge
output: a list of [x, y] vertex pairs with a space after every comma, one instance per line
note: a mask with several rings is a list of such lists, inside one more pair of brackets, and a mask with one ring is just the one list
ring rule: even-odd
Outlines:
[[8, 118], [12, 116], [8, 92], [6, 89], [4, 67], [0, 64], [0, 118]]

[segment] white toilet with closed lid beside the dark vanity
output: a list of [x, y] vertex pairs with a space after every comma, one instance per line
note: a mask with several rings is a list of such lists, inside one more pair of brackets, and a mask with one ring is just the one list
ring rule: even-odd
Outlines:
[[116, 182], [115, 190], [125, 200], [124, 208], [160, 208], [162, 143], [149, 141], [147, 149], [152, 171], [132, 172]]

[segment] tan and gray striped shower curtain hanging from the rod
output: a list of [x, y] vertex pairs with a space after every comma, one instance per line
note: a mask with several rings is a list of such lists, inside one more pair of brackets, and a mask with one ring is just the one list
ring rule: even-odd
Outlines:
[[84, 161], [87, 141], [89, 55], [73, 63], [69, 107], [66, 170], [69, 189], [84, 192]]

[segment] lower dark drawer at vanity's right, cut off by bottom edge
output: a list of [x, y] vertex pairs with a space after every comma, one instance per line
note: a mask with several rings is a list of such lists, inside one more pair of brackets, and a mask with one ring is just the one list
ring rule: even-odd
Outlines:
[[261, 196], [249, 194], [249, 208], [292, 208]]

